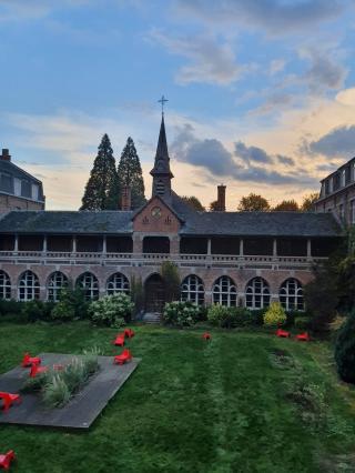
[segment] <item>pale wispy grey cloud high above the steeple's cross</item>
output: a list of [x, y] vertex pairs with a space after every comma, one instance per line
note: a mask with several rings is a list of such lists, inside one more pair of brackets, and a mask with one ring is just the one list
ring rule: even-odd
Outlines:
[[180, 68], [175, 80], [180, 84], [205, 82], [227, 85], [237, 80], [246, 67], [236, 63], [232, 47], [219, 42], [213, 36], [169, 37], [161, 31], [152, 30], [148, 40], [162, 46], [170, 53], [189, 60]]

